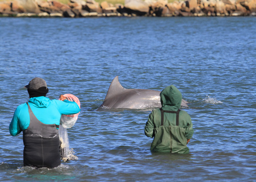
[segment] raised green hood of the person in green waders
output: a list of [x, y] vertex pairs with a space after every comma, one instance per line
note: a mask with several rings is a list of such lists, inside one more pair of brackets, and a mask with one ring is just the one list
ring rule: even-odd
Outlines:
[[163, 110], [177, 111], [180, 108], [182, 96], [174, 85], [170, 85], [161, 91], [160, 100]]

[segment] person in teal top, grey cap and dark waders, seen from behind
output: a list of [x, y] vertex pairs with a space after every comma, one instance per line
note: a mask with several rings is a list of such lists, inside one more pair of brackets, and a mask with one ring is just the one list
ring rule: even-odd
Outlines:
[[9, 131], [12, 136], [23, 132], [23, 164], [34, 167], [57, 167], [60, 165], [59, 134], [62, 114], [80, 112], [76, 102], [65, 99], [50, 100], [44, 79], [33, 78], [28, 85], [29, 100], [14, 112]]

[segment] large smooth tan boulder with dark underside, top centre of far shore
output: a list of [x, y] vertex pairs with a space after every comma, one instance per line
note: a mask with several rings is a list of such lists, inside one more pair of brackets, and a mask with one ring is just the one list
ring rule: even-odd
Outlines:
[[124, 9], [129, 14], [136, 14], [139, 16], [145, 15], [149, 12], [149, 6], [142, 0], [125, 0]]

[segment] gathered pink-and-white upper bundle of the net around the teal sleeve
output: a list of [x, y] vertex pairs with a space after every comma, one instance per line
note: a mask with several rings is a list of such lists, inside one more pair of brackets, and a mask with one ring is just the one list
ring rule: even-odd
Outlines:
[[[68, 101], [72, 101], [72, 102], [76, 102], [76, 104], [79, 106], [80, 108], [80, 101], [79, 99], [72, 95], [72, 94], [64, 94], [63, 95]], [[60, 100], [60, 97], [59, 97]], [[62, 99], [62, 101], [65, 99]], [[79, 112], [80, 113], [80, 112]], [[76, 114], [71, 114], [71, 115], [65, 115], [62, 114], [61, 118], [60, 118], [60, 125], [64, 128], [71, 128], [74, 126], [74, 124], [76, 123], [76, 120], [78, 118], [79, 113]]]

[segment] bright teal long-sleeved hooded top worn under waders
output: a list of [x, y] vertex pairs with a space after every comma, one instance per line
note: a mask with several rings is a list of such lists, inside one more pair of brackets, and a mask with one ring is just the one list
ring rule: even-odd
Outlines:
[[[60, 125], [61, 114], [76, 114], [80, 112], [76, 102], [68, 100], [50, 100], [47, 97], [30, 98], [28, 104], [36, 118], [44, 124]], [[27, 103], [21, 104], [15, 110], [9, 131], [12, 136], [18, 135], [21, 131], [28, 128], [30, 117]]]

